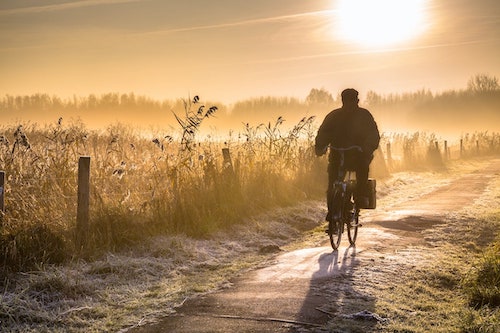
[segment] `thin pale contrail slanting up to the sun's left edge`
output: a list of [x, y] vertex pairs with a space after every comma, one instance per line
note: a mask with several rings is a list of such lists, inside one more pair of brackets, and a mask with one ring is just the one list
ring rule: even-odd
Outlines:
[[169, 34], [169, 33], [174, 33], [174, 32], [231, 28], [231, 27], [239, 27], [239, 26], [246, 26], [246, 25], [253, 25], [253, 24], [286, 21], [286, 20], [297, 19], [297, 18], [302, 18], [302, 17], [325, 16], [325, 15], [331, 15], [334, 12], [335, 12], [334, 10], [318, 10], [318, 11], [312, 11], [312, 12], [290, 14], [290, 15], [280, 15], [280, 16], [265, 17], [265, 18], [251, 19], [251, 20], [243, 20], [243, 21], [237, 21], [237, 22], [228, 22], [228, 23], [219, 23], [219, 24], [200, 25], [200, 26], [194, 26], [194, 27], [184, 27], [184, 28], [173, 28], [173, 29], [166, 29], [166, 30], [150, 31], [150, 32], [143, 32], [143, 33], [138, 33], [138, 34], [140, 34], [140, 35], [144, 35], [144, 34], [157, 35], [157, 34]]

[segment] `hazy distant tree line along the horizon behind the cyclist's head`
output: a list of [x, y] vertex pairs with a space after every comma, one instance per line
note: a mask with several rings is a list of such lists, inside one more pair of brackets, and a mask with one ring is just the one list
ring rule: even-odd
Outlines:
[[[232, 105], [206, 102], [217, 105], [219, 123], [234, 128], [245, 123], [273, 121], [284, 117], [294, 123], [304, 116], [323, 116], [341, 104], [340, 92], [332, 95], [324, 88], [313, 88], [305, 99], [295, 97], [262, 96], [237, 101]], [[155, 100], [134, 93], [106, 93], [101, 95], [60, 98], [49, 94], [0, 97], [0, 115], [12, 115], [21, 119], [47, 119], [62, 116], [99, 116], [104, 120], [134, 122], [138, 115], [156, 124], [175, 123], [174, 113], [183, 112], [186, 99]], [[400, 126], [404, 123], [472, 121], [479, 126], [481, 120], [500, 123], [500, 84], [498, 78], [488, 74], [472, 76], [465, 89], [433, 93], [421, 89], [407, 93], [380, 94], [374, 90], [366, 93], [362, 106], [369, 108], [383, 122]], [[106, 115], [109, 117], [106, 118]], [[42, 117], [43, 116], [43, 117]], [[53, 117], [52, 117], [53, 116]], [[3, 118], [3, 117], [2, 117]], [[146, 120], [144, 120], [146, 121]], [[447, 124], [445, 124], [447, 125]]]

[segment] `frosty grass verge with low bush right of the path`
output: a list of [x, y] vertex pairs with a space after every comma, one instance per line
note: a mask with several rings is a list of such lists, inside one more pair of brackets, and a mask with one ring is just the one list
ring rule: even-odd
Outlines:
[[[390, 281], [367, 283], [377, 284], [375, 311], [390, 318], [381, 331], [498, 332], [499, 199], [496, 179], [472, 207], [423, 231], [429, 246], [398, 253], [402, 260]], [[392, 258], [381, 260], [390, 270]]]

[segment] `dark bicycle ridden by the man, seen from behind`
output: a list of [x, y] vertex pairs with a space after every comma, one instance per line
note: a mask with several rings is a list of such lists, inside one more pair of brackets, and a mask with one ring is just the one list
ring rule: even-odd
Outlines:
[[333, 183], [332, 194], [328, 198], [330, 201], [329, 207], [332, 211], [330, 212], [327, 232], [330, 237], [330, 244], [335, 251], [339, 248], [344, 227], [347, 229], [347, 237], [352, 246], [356, 243], [358, 227], [361, 226], [359, 223], [360, 208], [354, 200], [356, 189], [355, 171], [346, 168], [345, 152], [355, 150], [361, 152], [362, 150], [359, 146], [347, 148], [330, 147], [330, 149], [340, 153], [339, 174]]

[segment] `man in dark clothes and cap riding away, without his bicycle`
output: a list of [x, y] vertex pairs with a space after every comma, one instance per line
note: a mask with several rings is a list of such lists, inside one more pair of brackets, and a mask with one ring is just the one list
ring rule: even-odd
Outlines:
[[[317, 156], [326, 153], [329, 145], [338, 148], [359, 146], [362, 151], [346, 152], [345, 164], [348, 169], [356, 172], [356, 192], [354, 200], [359, 208], [368, 207], [368, 171], [373, 159], [373, 152], [378, 148], [380, 134], [377, 123], [367, 109], [358, 106], [358, 92], [355, 89], [345, 89], [341, 93], [342, 107], [328, 113], [319, 127], [315, 139]], [[332, 193], [333, 183], [338, 177], [338, 152], [330, 149], [328, 156], [328, 191], [327, 204]], [[327, 221], [331, 214], [328, 207]]]

